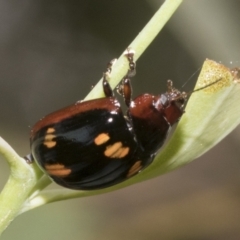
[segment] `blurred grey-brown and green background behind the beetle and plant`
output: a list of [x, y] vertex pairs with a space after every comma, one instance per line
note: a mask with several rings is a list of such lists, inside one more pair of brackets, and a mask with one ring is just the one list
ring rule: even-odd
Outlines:
[[[1, 1], [1, 136], [27, 154], [30, 127], [84, 98], [162, 2]], [[185, 0], [138, 61], [134, 95], [164, 92], [167, 79], [181, 88], [205, 58], [240, 66], [239, 10], [236, 0]], [[240, 239], [239, 140], [240, 127], [197, 161], [162, 177], [27, 212], [2, 239]], [[9, 174], [3, 158], [0, 169], [1, 189]]]

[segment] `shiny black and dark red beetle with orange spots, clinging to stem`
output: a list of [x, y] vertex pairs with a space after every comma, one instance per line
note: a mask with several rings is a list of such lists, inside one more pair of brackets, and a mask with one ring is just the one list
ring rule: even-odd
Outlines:
[[168, 132], [183, 114], [186, 94], [168, 81], [166, 93], [131, 99], [134, 54], [126, 53], [129, 71], [119, 85], [128, 107], [103, 77], [105, 98], [77, 102], [38, 121], [31, 130], [31, 158], [57, 184], [78, 190], [110, 187], [147, 167]]

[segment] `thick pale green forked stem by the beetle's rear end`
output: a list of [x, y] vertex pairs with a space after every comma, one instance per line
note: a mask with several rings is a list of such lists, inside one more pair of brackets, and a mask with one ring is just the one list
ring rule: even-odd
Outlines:
[[10, 222], [19, 214], [32, 187], [42, 174], [0, 138], [0, 153], [10, 165], [9, 179], [0, 195], [0, 235]]

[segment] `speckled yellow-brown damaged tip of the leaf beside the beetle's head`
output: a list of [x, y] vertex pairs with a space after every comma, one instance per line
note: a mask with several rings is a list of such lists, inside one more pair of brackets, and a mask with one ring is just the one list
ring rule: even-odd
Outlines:
[[196, 89], [204, 88], [205, 93], [215, 93], [233, 84], [239, 69], [229, 69], [213, 60], [206, 59], [198, 77]]

